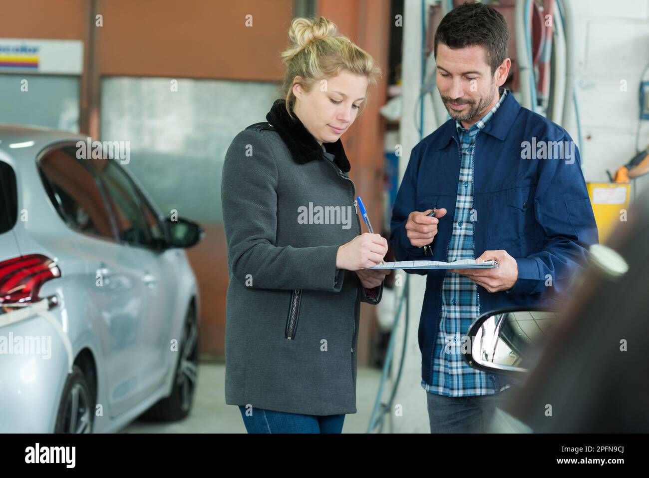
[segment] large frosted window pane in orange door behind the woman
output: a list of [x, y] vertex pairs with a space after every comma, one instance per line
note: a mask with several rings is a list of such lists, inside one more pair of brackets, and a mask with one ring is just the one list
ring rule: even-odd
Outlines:
[[165, 217], [221, 223], [221, 170], [232, 138], [265, 121], [277, 85], [269, 82], [106, 77], [101, 140], [128, 141], [124, 164]]

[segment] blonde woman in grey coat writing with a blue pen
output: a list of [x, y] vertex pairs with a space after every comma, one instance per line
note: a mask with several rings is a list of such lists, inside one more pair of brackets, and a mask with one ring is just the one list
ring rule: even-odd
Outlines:
[[360, 302], [376, 304], [387, 242], [361, 233], [340, 137], [380, 69], [328, 19], [296, 18], [282, 99], [223, 166], [230, 284], [226, 403], [249, 433], [340, 433], [356, 412]]

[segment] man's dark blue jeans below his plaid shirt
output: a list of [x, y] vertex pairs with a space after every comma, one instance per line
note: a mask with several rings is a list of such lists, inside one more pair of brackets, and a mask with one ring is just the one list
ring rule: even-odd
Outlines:
[[430, 433], [488, 433], [496, 407], [503, 409], [517, 386], [493, 395], [447, 397], [426, 392]]

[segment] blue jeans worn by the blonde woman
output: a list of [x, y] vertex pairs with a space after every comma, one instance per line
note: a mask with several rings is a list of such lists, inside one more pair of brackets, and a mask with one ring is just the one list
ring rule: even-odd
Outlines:
[[[300, 415], [239, 406], [248, 433], [341, 433], [345, 415]], [[246, 411], [249, 410], [246, 415]]]

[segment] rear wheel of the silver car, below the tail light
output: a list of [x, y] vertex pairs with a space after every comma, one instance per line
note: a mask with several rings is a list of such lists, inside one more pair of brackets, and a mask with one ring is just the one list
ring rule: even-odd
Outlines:
[[63, 387], [54, 433], [92, 433], [94, 409], [90, 384], [82, 370], [75, 365]]

